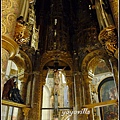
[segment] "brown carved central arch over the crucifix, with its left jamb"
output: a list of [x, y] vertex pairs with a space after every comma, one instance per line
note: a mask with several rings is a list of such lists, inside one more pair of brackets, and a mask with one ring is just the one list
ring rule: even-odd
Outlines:
[[35, 119], [41, 119], [41, 112], [39, 112], [39, 110], [41, 109], [41, 100], [42, 100], [42, 90], [43, 90], [43, 85], [45, 85], [45, 79], [47, 76], [47, 70], [44, 70], [44, 66], [50, 62], [50, 61], [54, 61], [54, 60], [60, 60], [63, 61], [64, 63], [66, 63], [69, 67], [70, 67], [70, 73], [68, 74], [72, 74], [72, 70], [73, 70], [73, 61], [72, 61], [72, 57], [70, 55], [70, 53], [67, 52], [63, 52], [63, 51], [48, 51], [46, 53], [44, 53], [42, 55], [42, 58], [40, 59], [40, 65], [39, 65], [39, 74], [37, 74], [36, 76], [36, 82], [35, 82], [35, 86], [36, 86], [36, 93], [37, 93], [37, 100], [35, 100], [35, 110], [36, 110], [36, 118]]

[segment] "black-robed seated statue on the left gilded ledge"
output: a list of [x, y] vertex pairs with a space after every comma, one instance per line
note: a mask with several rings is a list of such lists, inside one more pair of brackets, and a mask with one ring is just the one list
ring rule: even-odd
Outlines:
[[20, 90], [17, 88], [16, 82], [14, 82], [13, 89], [10, 90], [9, 99], [12, 100], [13, 102], [22, 103], [22, 104], [24, 103], [20, 95]]

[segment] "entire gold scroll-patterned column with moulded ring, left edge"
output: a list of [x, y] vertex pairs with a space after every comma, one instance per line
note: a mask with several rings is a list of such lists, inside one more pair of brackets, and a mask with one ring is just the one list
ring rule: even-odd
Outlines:
[[19, 51], [19, 47], [14, 41], [19, 3], [20, 0], [2, 1], [2, 89], [8, 60], [12, 59]]

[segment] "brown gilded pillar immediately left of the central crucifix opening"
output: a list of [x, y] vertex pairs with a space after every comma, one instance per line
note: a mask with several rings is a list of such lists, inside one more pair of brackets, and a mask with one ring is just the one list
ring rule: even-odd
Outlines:
[[29, 111], [28, 120], [41, 120], [42, 116], [42, 94], [43, 94], [43, 76], [35, 74], [34, 94], [32, 108]]

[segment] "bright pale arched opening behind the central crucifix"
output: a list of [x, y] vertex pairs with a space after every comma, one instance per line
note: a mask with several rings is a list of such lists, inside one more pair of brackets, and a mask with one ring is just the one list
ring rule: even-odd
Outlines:
[[[58, 86], [55, 86], [56, 81], [58, 82]], [[46, 83], [43, 86], [42, 120], [57, 120], [58, 118], [54, 118], [56, 108], [60, 113], [61, 109], [63, 111], [64, 108], [69, 107], [68, 91], [69, 87], [66, 83], [65, 72], [60, 69], [57, 71], [49, 69], [46, 76]]]

